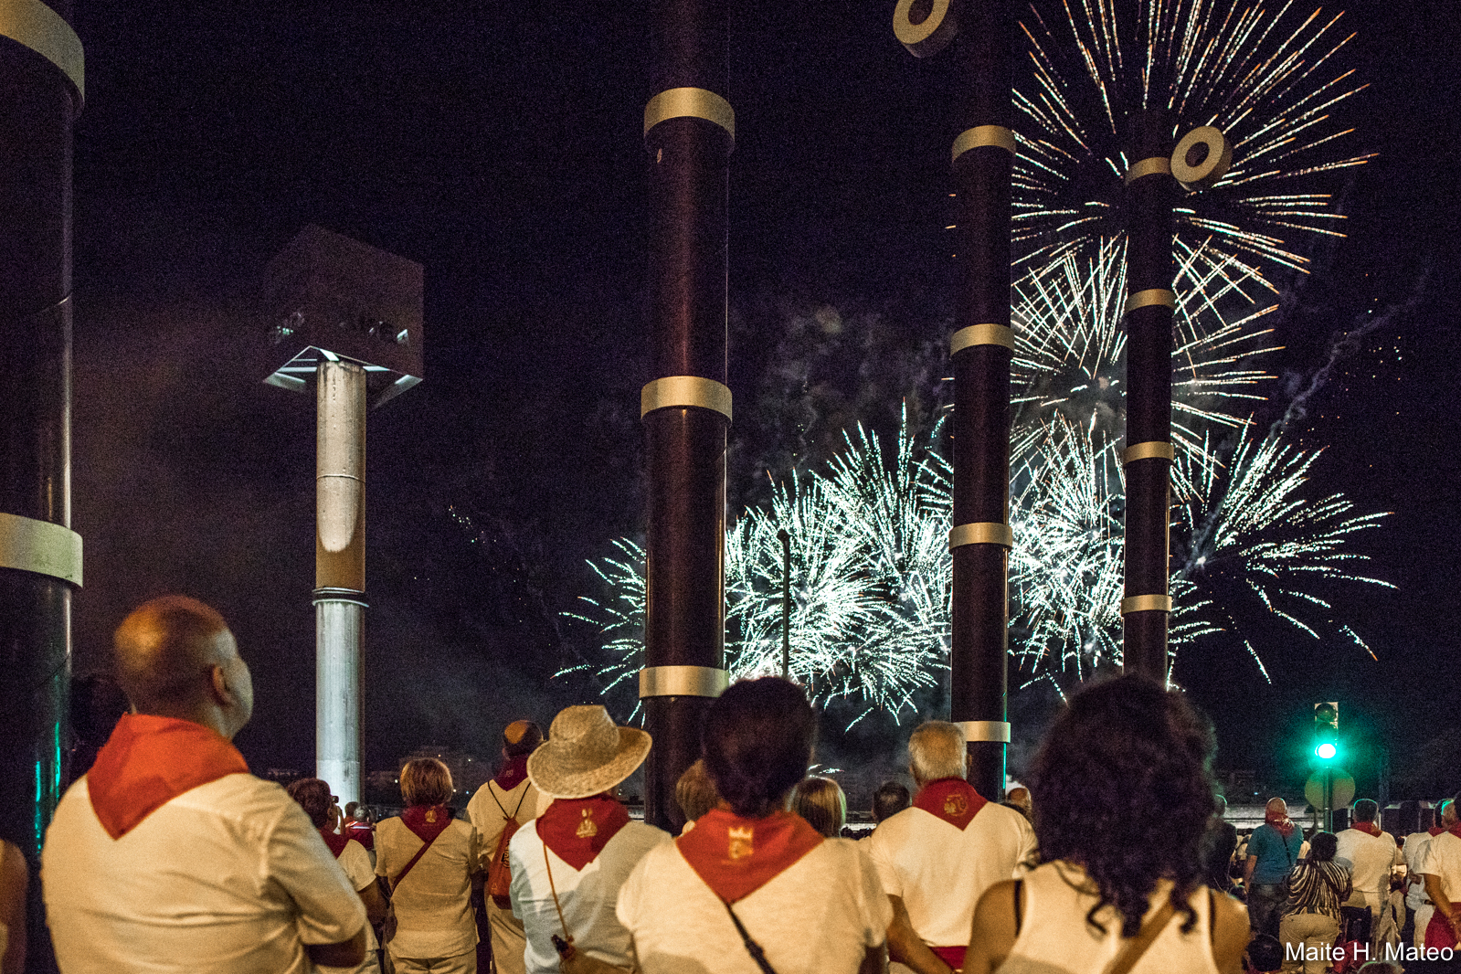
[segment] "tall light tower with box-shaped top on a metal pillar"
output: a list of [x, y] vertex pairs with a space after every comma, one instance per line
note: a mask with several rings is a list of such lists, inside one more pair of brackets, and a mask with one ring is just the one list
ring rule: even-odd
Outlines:
[[316, 396], [316, 775], [361, 797], [365, 409], [422, 378], [422, 269], [318, 226], [264, 272], [264, 383]]

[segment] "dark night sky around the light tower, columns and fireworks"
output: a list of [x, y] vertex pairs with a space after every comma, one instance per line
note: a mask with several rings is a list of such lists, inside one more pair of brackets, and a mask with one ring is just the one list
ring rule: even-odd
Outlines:
[[[896, 429], [910, 390], [891, 358], [881, 374], [818, 359], [839, 407], [799, 435], [755, 403], [796, 323], [945, 342], [955, 130], [948, 66], [903, 51], [891, 1], [739, 6], [736, 504], [764, 496], [767, 467], [824, 456], [844, 422]], [[488, 756], [504, 721], [595, 695], [551, 678], [593, 645], [561, 618], [596, 591], [584, 559], [643, 527], [644, 6], [77, 7], [76, 672], [105, 664], [137, 602], [202, 597], [253, 666], [244, 753], [313, 767], [314, 404], [262, 386], [250, 358], [259, 273], [313, 222], [427, 273], [427, 380], [370, 415], [368, 770], [425, 742]], [[1386, 746], [1397, 770], [1461, 730], [1457, 38], [1432, 4], [1344, 9], [1346, 58], [1370, 88], [1335, 114], [1379, 158], [1341, 184], [1349, 238], [1283, 294], [1267, 409], [1315, 390], [1293, 428], [1327, 445], [1315, 488], [1394, 511], [1359, 551], [1398, 590], [1338, 606], [1378, 662], [1255, 621], [1273, 685], [1240, 647], [1178, 667], [1217, 721], [1218, 764], [1275, 780], [1313, 701], [1340, 699], [1357, 749]], [[1012, 710], [1029, 742], [1048, 701]]]

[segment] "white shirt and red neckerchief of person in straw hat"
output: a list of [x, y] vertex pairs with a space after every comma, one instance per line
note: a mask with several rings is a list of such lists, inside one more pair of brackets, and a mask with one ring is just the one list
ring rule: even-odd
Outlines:
[[554, 935], [571, 936], [577, 951], [606, 964], [633, 967], [630, 932], [615, 916], [619, 888], [649, 850], [666, 843], [668, 832], [631, 822], [622, 805], [603, 796], [555, 799], [520, 828], [510, 854], [513, 913], [527, 933], [527, 974], [558, 974]]

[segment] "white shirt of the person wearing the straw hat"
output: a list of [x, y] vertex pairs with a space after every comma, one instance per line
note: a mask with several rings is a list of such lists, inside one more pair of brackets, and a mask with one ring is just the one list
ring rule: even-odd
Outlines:
[[671, 841], [669, 832], [628, 822], [614, 834], [593, 862], [576, 870], [548, 850], [552, 863], [552, 888], [543, 864], [543, 843], [538, 838], [538, 824], [529, 822], [513, 835], [508, 853], [513, 863], [513, 913], [527, 932], [524, 961], [529, 974], [558, 974], [558, 951], [552, 935], [564, 936], [554, 907], [552, 889], [558, 891], [562, 921], [573, 935], [574, 946], [590, 956], [618, 967], [631, 967], [630, 933], [614, 910], [619, 888], [644, 857], [644, 853]]

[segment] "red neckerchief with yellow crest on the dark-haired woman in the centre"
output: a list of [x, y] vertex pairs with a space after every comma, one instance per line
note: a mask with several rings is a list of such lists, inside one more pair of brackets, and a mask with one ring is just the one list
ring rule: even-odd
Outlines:
[[793, 812], [741, 818], [726, 809], [712, 809], [695, 821], [694, 829], [675, 840], [675, 847], [712, 892], [725, 902], [736, 902], [821, 843], [821, 832]]

